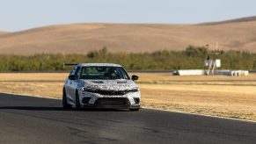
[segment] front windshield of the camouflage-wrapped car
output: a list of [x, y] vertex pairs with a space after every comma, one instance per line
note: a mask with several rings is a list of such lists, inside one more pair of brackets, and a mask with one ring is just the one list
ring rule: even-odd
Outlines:
[[83, 67], [80, 79], [115, 80], [129, 79], [127, 72], [121, 67]]

